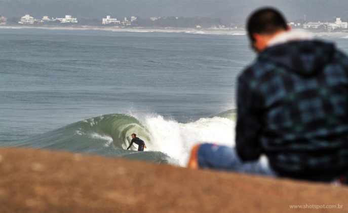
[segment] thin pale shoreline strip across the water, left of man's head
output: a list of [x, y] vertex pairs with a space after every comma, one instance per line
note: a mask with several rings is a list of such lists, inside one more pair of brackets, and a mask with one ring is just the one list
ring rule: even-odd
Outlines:
[[50, 29], [50, 30], [102, 30], [113, 32], [183, 32], [191, 34], [216, 34], [216, 35], [246, 35], [243, 30], [236, 29], [215, 29], [215, 28], [145, 28], [145, 27], [132, 27], [132, 28], [114, 28], [114, 27], [98, 27], [98, 26], [17, 26], [17, 25], [4, 25], [0, 26], [0, 29]]

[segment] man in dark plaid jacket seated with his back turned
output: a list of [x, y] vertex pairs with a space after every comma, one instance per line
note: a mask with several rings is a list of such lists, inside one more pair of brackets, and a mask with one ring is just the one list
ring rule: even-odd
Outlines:
[[250, 16], [258, 57], [238, 78], [236, 147], [197, 145], [188, 167], [322, 182], [348, 176], [348, 58], [286, 23], [272, 8]]

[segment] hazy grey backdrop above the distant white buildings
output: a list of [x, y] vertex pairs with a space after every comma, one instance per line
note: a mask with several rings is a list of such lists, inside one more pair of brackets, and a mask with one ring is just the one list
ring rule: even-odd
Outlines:
[[273, 6], [289, 21], [330, 21], [334, 17], [348, 20], [347, 0], [0, 0], [0, 15], [35, 18], [44, 15], [62, 17], [71, 14], [77, 18], [139, 16], [211, 17], [244, 22], [255, 9]]

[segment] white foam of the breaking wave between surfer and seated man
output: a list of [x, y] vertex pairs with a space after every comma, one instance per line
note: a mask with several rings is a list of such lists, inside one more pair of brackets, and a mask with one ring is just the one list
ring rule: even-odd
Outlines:
[[185, 124], [162, 116], [149, 116], [144, 124], [151, 133], [148, 151], [166, 153], [180, 166], [186, 165], [191, 148], [198, 143], [234, 146], [235, 122], [226, 118], [202, 118]]

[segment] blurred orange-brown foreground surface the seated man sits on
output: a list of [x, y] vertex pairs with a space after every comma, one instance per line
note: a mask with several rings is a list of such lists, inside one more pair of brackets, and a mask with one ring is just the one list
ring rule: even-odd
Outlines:
[[0, 175], [0, 212], [348, 212], [348, 187], [64, 152], [1, 149]]

